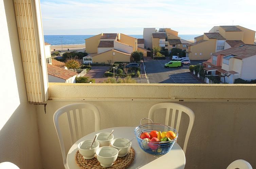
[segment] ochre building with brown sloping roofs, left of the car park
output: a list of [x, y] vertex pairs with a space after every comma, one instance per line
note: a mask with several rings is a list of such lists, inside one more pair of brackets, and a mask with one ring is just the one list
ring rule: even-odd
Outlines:
[[83, 63], [130, 62], [131, 53], [138, 50], [138, 39], [122, 33], [102, 33], [85, 39], [85, 43], [88, 56]]

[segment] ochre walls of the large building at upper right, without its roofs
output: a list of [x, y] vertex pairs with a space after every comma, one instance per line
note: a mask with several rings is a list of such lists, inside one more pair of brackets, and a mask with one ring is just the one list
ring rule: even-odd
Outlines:
[[[234, 30], [234, 28], [237, 30]], [[254, 44], [255, 31], [246, 29], [242, 26], [214, 26], [209, 33], [219, 33], [225, 40], [242, 40], [244, 43]], [[186, 57], [189, 57], [190, 60], [207, 60], [211, 58], [211, 53], [227, 48], [227, 45], [224, 44], [223, 49], [218, 49], [218, 39], [215, 39], [217, 40], [215, 43], [213, 41], [208, 42], [208, 40], [209, 38], [206, 34], [197, 37], [195, 42], [201, 41], [201, 43], [192, 43], [192, 46], [188, 46], [186, 49]], [[198, 53], [201, 53], [202, 56], [197, 57]]]

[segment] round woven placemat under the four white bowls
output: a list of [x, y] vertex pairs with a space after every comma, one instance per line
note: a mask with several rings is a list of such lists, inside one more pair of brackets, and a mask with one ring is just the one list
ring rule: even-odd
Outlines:
[[[135, 156], [135, 151], [131, 147], [126, 156], [117, 157], [114, 164], [109, 168], [112, 168], [112, 169], [127, 168], [133, 162], [134, 156]], [[75, 161], [76, 161], [76, 164], [82, 169], [104, 169], [105, 168], [100, 165], [96, 156], [92, 159], [84, 159], [83, 155], [81, 155], [78, 150], [76, 152]]]

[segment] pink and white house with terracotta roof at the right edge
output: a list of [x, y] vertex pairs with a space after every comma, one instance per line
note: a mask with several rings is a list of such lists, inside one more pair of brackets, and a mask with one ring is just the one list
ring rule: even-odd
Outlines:
[[[235, 79], [256, 79], [256, 45], [242, 44], [212, 54], [212, 58], [203, 62], [207, 74], [226, 74], [225, 82], [233, 83]], [[224, 82], [224, 77], [221, 77]]]

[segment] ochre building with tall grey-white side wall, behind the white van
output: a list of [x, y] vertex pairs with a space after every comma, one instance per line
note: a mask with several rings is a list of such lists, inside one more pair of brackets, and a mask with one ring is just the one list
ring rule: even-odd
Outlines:
[[186, 49], [186, 45], [192, 43], [178, 37], [178, 32], [170, 28], [144, 28], [143, 39], [145, 48], [153, 49], [156, 46], [170, 51], [172, 48]]

